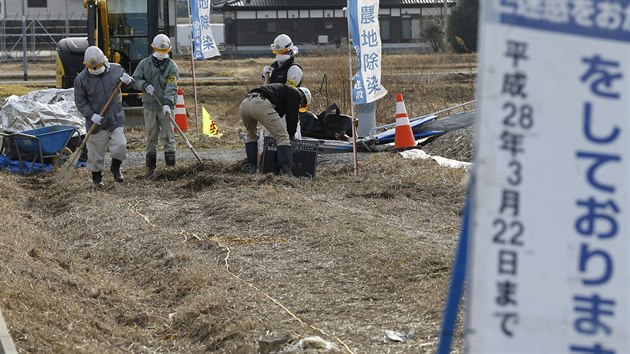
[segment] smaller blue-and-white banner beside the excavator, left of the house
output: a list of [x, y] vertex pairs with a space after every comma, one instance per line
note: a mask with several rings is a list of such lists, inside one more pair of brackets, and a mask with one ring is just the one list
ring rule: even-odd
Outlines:
[[210, 0], [190, 0], [191, 42], [195, 59], [208, 59], [221, 55], [210, 27], [210, 6]]

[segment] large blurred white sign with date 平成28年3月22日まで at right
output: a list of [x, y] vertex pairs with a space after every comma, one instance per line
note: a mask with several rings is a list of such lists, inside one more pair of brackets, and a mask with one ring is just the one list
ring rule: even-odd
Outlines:
[[469, 353], [630, 352], [630, 0], [480, 2]]

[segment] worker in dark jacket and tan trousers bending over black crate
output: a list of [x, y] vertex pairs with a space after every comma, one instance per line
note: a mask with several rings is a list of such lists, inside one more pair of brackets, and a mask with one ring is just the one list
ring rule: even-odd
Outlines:
[[[298, 112], [306, 112], [312, 103], [311, 91], [286, 84], [267, 84], [252, 89], [240, 106], [247, 136], [245, 153], [249, 172], [258, 170], [258, 123], [267, 128], [276, 140], [278, 174], [291, 175], [291, 139], [295, 137]], [[286, 118], [286, 126], [282, 116]]]

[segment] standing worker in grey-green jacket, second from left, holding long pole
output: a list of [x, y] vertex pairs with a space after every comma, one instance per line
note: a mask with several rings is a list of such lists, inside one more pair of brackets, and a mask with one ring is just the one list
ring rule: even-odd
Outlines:
[[133, 73], [134, 88], [143, 91], [146, 166], [149, 177], [157, 165], [158, 141], [164, 145], [164, 161], [175, 166], [175, 133], [171, 114], [177, 103], [179, 69], [169, 57], [171, 40], [158, 34], [151, 43], [153, 54], [142, 59]]

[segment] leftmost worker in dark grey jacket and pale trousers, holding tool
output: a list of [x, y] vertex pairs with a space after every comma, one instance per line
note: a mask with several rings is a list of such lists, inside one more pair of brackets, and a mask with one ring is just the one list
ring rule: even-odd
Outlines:
[[[125, 112], [122, 108], [122, 95], [119, 81], [128, 85], [132, 82], [122, 66], [110, 64], [103, 52], [95, 46], [88, 47], [83, 57], [85, 69], [74, 79], [74, 103], [86, 119], [86, 128], [98, 126], [86, 142], [88, 151], [87, 168], [92, 172], [92, 182], [102, 187], [102, 173], [105, 165], [105, 152], [109, 144], [112, 158], [110, 171], [116, 182], [123, 181], [120, 165], [127, 157], [125, 137]], [[105, 115], [101, 116], [107, 100], [117, 90]]]

